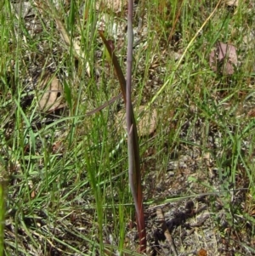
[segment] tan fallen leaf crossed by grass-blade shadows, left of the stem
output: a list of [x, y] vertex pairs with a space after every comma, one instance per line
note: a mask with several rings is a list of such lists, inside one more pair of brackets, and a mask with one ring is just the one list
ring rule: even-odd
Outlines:
[[44, 76], [40, 84], [42, 91], [41, 98], [38, 99], [38, 105], [41, 111], [55, 111], [63, 108], [63, 88], [57, 77], [51, 77], [49, 74]]

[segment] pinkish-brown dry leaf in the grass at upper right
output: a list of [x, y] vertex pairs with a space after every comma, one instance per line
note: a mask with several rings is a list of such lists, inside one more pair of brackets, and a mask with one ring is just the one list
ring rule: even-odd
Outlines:
[[228, 43], [218, 42], [216, 49], [209, 56], [209, 64], [213, 71], [219, 71], [223, 75], [232, 75], [237, 65], [235, 46]]

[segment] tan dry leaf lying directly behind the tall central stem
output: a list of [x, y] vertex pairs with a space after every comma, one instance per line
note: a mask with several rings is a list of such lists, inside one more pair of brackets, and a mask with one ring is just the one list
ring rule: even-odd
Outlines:
[[[140, 105], [137, 115], [144, 111], [145, 106]], [[137, 111], [137, 110], [135, 110]], [[139, 136], [146, 136], [152, 134], [156, 130], [156, 110], [153, 111], [145, 111], [143, 116], [137, 122], [137, 129]], [[119, 111], [116, 115], [116, 124], [118, 127], [122, 127], [125, 131], [127, 131], [126, 126], [126, 114], [125, 110]]]

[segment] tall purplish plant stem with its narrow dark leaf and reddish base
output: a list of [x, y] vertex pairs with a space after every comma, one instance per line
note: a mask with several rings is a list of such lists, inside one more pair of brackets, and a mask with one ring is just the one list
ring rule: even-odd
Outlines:
[[[132, 7], [129, 6], [129, 8], [133, 9], [133, 6]], [[130, 19], [129, 15], [128, 15], [128, 19]], [[129, 28], [130, 26], [132, 28], [132, 20], [131, 20], [131, 23], [129, 20], [128, 26]], [[111, 62], [114, 65], [116, 76], [118, 77], [118, 80], [120, 82], [120, 86], [122, 89], [122, 96], [126, 105], [129, 185], [132, 191], [133, 201], [134, 201], [135, 211], [136, 211], [136, 219], [137, 219], [138, 232], [139, 232], [139, 245], [140, 245], [139, 251], [143, 253], [146, 250], [146, 231], [145, 231], [145, 224], [144, 224], [143, 194], [142, 194], [140, 160], [139, 160], [139, 139], [138, 139], [135, 118], [133, 114], [133, 106], [131, 103], [132, 44], [130, 47], [130, 39], [129, 39], [128, 41], [129, 45], [127, 46], [127, 48], [129, 48], [129, 51], [127, 53], [128, 67], [127, 67], [127, 84], [126, 84], [126, 79], [123, 75], [122, 68], [119, 65], [116, 55], [111, 49], [110, 44], [105, 39], [105, 36], [102, 31], [99, 31], [99, 35], [102, 38], [105, 44], [105, 47], [111, 56]], [[131, 40], [133, 40], [132, 36], [133, 35], [131, 34]], [[129, 34], [128, 34], [128, 37], [130, 38]]]

